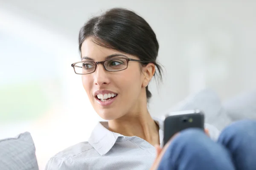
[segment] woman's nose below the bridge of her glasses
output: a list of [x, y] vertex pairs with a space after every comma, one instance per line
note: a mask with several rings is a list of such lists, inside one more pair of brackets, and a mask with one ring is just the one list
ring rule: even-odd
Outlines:
[[102, 64], [98, 64], [96, 71], [93, 73], [93, 79], [95, 85], [107, 85], [110, 83], [107, 71]]

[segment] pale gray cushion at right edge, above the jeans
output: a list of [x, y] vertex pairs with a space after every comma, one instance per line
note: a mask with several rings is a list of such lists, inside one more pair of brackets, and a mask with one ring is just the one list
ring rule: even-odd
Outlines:
[[240, 119], [256, 120], [256, 91], [247, 91], [227, 100], [223, 104], [233, 121]]

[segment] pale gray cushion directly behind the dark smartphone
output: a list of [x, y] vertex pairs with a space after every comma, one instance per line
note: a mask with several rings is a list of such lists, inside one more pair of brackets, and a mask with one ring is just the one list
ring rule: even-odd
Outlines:
[[199, 109], [205, 113], [205, 123], [213, 125], [222, 130], [232, 120], [227, 115], [221, 101], [215, 91], [204, 89], [192, 94], [169, 111], [182, 111]]

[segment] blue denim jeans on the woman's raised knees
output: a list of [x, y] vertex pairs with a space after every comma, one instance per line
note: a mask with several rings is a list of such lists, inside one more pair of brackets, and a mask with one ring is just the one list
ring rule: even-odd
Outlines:
[[183, 130], [168, 146], [158, 170], [256, 170], [256, 121], [234, 122], [217, 142], [202, 130]]

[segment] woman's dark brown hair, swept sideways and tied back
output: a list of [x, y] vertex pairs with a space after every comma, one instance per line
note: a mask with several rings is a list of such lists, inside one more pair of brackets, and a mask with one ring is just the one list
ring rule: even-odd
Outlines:
[[[103, 47], [137, 56], [145, 65], [154, 63], [156, 75], [162, 80], [162, 68], [156, 61], [159, 49], [156, 35], [149, 24], [133, 11], [112, 8], [88, 20], [79, 32], [80, 53], [87, 37], [92, 37], [95, 43]], [[146, 95], [147, 99], [152, 96], [148, 86]]]

